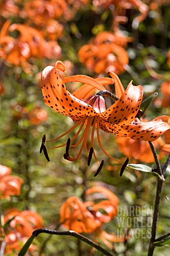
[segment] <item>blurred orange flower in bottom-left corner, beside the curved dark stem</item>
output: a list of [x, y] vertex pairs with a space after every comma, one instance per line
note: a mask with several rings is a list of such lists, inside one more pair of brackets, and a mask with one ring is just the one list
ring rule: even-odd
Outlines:
[[[7, 253], [20, 250], [33, 230], [43, 227], [43, 219], [40, 215], [30, 210], [21, 212], [17, 209], [8, 209], [4, 213], [4, 223], [9, 220], [11, 221], [4, 230], [5, 252]], [[35, 246], [31, 245], [29, 250], [32, 249], [35, 249]]]

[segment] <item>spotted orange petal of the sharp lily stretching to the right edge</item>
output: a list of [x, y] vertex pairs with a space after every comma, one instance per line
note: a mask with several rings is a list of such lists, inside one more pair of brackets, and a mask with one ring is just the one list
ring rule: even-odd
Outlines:
[[113, 125], [100, 122], [101, 130], [118, 136], [133, 139], [154, 141], [170, 129], [168, 116], [158, 116], [150, 122], [141, 122], [135, 118], [129, 125]]

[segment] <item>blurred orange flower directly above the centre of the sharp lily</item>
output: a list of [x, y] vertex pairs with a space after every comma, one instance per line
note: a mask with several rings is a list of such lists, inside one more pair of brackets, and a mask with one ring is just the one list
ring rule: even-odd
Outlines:
[[103, 31], [92, 38], [89, 44], [80, 48], [79, 59], [97, 74], [111, 70], [120, 75], [124, 73], [124, 67], [129, 63], [128, 53], [124, 47], [131, 41], [131, 37], [125, 37], [120, 33]]

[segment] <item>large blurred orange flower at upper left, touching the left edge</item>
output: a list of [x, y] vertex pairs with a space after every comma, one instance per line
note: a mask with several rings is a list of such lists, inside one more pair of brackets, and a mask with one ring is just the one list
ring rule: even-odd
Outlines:
[[[12, 31], [19, 31], [18, 38], [9, 36]], [[21, 66], [30, 73], [31, 58], [56, 58], [61, 56], [61, 47], [55, 41], [47, 42], [44, 36], [35, 28], [7, 20], [0, 33], [0, 55], [7, 62]]]

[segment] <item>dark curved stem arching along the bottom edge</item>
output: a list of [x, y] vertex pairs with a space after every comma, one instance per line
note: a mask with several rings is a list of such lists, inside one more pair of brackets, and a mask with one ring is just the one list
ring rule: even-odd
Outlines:
[[104, 255], [106, 256], [114, 256], [114, 254], [106, 251], [103, 247], [101, 247], [100, 245], [96, 244], [95, 242], [91, 241], [89, 238], [82, 236], [81, 234], [73, 231], [73, 230], [69, 230], [69, 231], [60, 231], [60, 230], [52, 230], [52, 229], [46, 229], [46, 228], [40, 228], [40, 229], [36, 229], [35, 231], [32, 232], [32, 236], [28, 239], [28, 241], [23, 245], [21, 251], [19, 252], [19, 256], [24, 256], [28, 249], [29, 246], [31, 245], [31, 243], [33, 242], [33, 239], [35, 237], [37, 237], [39, 234], [41, 233], [46, 233], [46, 234], [51, 234], [51, 235], [64, 235], [64, 236], [74, 236], [78, 239], [80, 239], [81, 241], [83, 241], [84, 243], [89, 244], [92, 247], [95, 247], [96, 250], [104, 253]]

